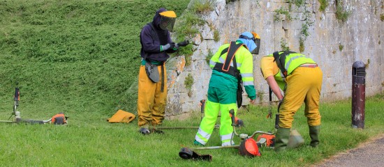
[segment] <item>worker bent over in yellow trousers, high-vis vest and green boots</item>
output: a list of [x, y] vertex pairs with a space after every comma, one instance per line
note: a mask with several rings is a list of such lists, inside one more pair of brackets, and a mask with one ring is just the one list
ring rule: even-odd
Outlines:
[[[320, 90], [323, 72], [311, 58], [293, 51], [276, 51], [261, 59], [261, 70], [273, 93], [279, 98], [279, 129], [274, 150], [286, 150], [293, 116], [305, 103], [304, 115], [309, 125], [311, 146], [319, 144]], [[280, 89], [284, 92], [284, 97]]]

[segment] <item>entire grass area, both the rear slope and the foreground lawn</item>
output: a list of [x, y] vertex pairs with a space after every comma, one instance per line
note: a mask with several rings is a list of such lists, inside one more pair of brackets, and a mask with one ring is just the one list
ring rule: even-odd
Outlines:
[[[200, 151], [212, 154], [211, 163], [186, 161], [178, 152], [191, 146], [196, 129], [142, 136], [137, 118], [129, 124], [106, 122], [117, 109], [136, 113], [142, 26], [158, 8], [167, 6], [180, 16], [188, 3], [0, 1], [0, 120], [12, 112], [15, 87], [20, 88], [22, 118], [46, 120], [59, 112], [69, 116], [66, 126], [0, 123], [1, 166], [302, 166], [383, 133], [383, 95], [367, 100], [365, 129], [350, 128], [350, 102], [321, 104], [319, 148], [306, 146], [282, 154], [263, 148], [263, 156], [255, 159], [226, 149]], [[190, 19], [198, 23], [195, 17]], [[252, 106], [250, 111], [239, 111], [246, 127], [237, 132], [272, 130], [274, 120], [265, 118], [267, 109]], [[164, 122], [165, 126], [199, 123], [200, 111], [186, 120]], [[294, 127], [308, 142], [302, 109]], [[220, 144], [215, 130], [207, 146]]]

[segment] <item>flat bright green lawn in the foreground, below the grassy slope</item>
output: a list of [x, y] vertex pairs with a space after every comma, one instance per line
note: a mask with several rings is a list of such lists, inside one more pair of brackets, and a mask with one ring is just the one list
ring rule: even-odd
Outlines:
[[[383, 100], [384, 95], [367, 98], [364, 129], [350, 127], [350, 100], [322, 103], [321, 143], [316, 149], [308, 146], [307, 122], [303, 109], [300, 109], [295, 115], [293, 127], [304, 137], [306, 145], [303, 147], [281, 154], [261, 148], [262, 157], [254, 159], [240, 156], [236, 149], [197, 151], [200, 154], [212, 154], [210, 163], [184, 160], [178, 155], [180, 148], [193, 146], [197, 129], [170, 129], [164, 130], [163, 135], [143, 136], [138, 133], [137, 118], [128, 124], [110, 124], [96, 112], [68, 113], [68, 125], [1, 123], [0, 163], [5, 166], [221, 166], [225, 161], [226, 166], [309, 166], [383, 134]], [[31, 111], [22, 106], [20, 103], [19, 111], [22, 113], [38, 110]], [[273, 130], [274, 119], [265, 118], [267, 113], [267, 106], [251, 106], [249, 111], [239, 111], [238, 117], [244, 120], [245, 127], [237, 129], [237, 132], [251, 134], [256, 130]], [[276, 113], [275, 105], [273, 113]], [[6, 119], [9, 114], [1, 113], [0, 118]], [[200, 111], [195, 111], [186, 120], [165, 120], [164, 126], [191, 127], [199, 123]], [[235, 138], [236, 143], [239, 141], [239, 138]], [[221, 145], [218, 130], [214, 130], [207, 143], [207, 146], [214, 145]]]

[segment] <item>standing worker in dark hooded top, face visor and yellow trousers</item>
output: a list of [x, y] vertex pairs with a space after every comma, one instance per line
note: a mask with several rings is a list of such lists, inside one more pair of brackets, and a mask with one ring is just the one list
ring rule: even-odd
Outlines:
[[170, 31], [175, 24], [176, 14], [160, 8], [152, 22], [142, 28], [140, 33], [140, 56], [142, 62], [138, 83], [138, 126], [139, 132], [149, 134], [149, 124], [161, 125], [164, 120], [167, 99], [167, 77], [165, 61], [168, 53], [188, 45], [188, 41], [175, 44]]

